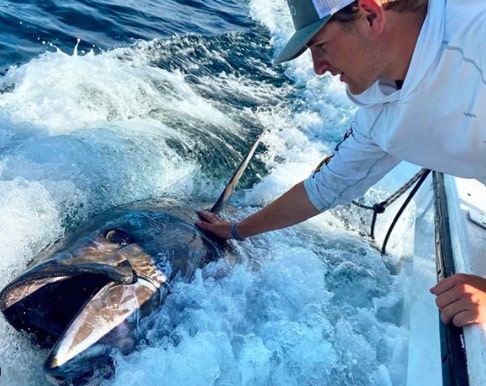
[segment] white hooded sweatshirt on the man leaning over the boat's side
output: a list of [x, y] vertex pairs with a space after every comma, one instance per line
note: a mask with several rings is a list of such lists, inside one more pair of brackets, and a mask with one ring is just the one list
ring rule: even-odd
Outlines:
[[401, 89], [375, 82], [331, 160], [304, 186], [320, 211], [362, 196], [400, 161], [486, 183], [486, 1], [429, 0]]

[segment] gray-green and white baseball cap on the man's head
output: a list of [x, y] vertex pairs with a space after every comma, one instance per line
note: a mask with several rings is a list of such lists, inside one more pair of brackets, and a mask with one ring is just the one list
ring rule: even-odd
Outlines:
[[275, 64], [295, 59], [329, 21], [331, 16], [355, 0], [287, 0], [295, 33], [273, 60]]

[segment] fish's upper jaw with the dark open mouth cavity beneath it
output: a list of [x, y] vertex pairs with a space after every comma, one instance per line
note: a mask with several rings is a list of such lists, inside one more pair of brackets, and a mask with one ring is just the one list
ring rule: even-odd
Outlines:
[[108, 264], [52, 259], [8, 284], [0, 293], [0, 310], [16, 329], [32, 333], [41, 347], [50, 347], [101, 288], [110, 282], [134, 281], [133, 269], [123, 256]]

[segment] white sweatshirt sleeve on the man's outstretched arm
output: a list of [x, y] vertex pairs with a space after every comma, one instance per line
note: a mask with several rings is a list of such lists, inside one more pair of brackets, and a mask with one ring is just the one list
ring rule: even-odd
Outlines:
[[399, 162], [352, 127], [333, 156], [304, 180], [304, 187], [322, 212], [361, 197]]

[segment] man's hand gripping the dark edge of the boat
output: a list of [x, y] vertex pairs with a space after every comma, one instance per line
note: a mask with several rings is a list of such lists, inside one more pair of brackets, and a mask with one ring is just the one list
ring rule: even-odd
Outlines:
[[486, 324], [485, 278], [459, 273], [442, 279], [430, 292], [437, 296], [435, 303], [445, 324]]

